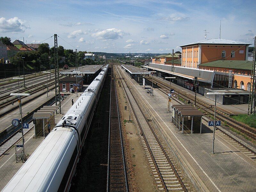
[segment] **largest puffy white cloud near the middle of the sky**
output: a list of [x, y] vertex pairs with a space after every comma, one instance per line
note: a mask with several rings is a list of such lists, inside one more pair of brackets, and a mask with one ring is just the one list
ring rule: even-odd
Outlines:
[[123, 38], [124, 35], [130, 35], [130, 34], [116, 28], [106, 29], [106, 30], [99, 31], [97, 33], [92, 34], [93, 37], [104, 39], [104, 40], [107, 40], [107, 39], [114, 40], [118, 38]]

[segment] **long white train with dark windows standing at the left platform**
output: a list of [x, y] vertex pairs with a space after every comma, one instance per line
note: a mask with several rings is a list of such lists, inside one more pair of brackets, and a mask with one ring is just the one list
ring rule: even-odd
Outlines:
[[10, 191], [68, 191], [108, 65], [4, 187]]

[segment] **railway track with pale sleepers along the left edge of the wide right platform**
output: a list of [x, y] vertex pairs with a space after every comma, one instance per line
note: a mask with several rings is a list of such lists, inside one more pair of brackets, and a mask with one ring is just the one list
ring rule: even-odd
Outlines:
[[154, 174], [159, 191], [188, 191], [181, 180], [178, 172], [173, 166], [170, 158], [166, 154], [163, 146], [158, 140], [154, 130], [143, 114], [139, 104], [135, 100], [129, 86], [126, 84], [118, 68], [116, 72], [121, 80], [127, 99], [133, 111], [133, 118], [139, 132], [143, 147], [147, 152], [148, 161]]

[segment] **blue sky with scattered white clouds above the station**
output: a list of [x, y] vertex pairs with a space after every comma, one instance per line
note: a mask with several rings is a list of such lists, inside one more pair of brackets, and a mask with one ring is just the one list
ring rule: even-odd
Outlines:
[[256, 35], [251, 0], [1, 0], [0, 36], [78, 51], [169, 53], [180, 45], [221, 38], [245, 43]]

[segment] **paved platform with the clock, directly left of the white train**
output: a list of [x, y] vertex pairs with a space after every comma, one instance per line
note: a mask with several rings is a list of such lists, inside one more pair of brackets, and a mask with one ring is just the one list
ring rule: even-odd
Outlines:
[[[63, 114], [65, 114], [68, 111], [68, 109], [71, 107], [72, 105], [71, 100], [73, 99], [74, 102], [76, 102], [79, 96], [76, 97], [76, 93], [72, 93], [61, 102], [62, 115], [55, 116], [56, 123], [60, 121]], [[33, 126], [33, 123], [29, 124], [29, 127], [31, 126]], [[44, 140], [43, 137], [34, 138], [33, 128], [25, 135], [24, 139], [25, 139], [25, 154], [28, 155], [28, 158]], [[21, 143], [21, 140], [19, 140], [19, 142], [17, 143]], [[15, 147], [12, 147], [5, 154], [0, 156], [0, 191], [9, 182], [9, 180], [12, 179], [12, 177], [15, 175], [15, 173], [20, 169], [22, 165], [23, 165], [22, 162], [16, 163]]]

